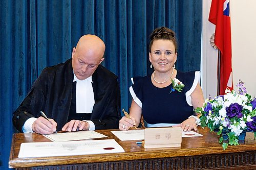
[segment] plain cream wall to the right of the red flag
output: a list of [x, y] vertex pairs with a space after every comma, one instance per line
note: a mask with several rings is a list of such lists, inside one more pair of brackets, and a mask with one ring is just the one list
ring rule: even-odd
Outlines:
[[230, 17], [233, 82], [256, 96], [256, 1], [231, 0]]

